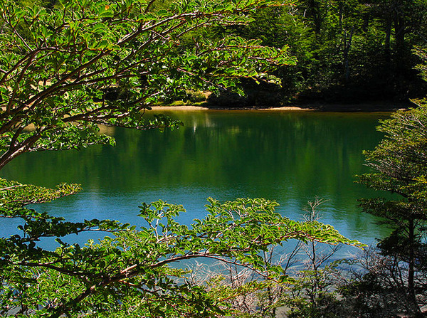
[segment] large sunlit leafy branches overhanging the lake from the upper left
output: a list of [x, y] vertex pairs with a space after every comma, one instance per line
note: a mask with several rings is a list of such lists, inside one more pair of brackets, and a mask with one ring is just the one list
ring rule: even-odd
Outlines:
[[286, 48], [226, 36], [180, 50], [189, 31], [248, 21], [273, 1], [59, 1], [49, 9], [0, 8], [0, 167], [23, 152], [113, 143], [97, 124], [177, 127], [143, 111], [184, 90], [231, 87], [238, 76], [274, 80], [274, 64], [295, 63]]

